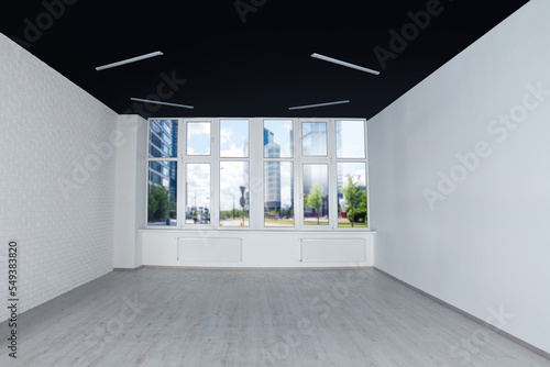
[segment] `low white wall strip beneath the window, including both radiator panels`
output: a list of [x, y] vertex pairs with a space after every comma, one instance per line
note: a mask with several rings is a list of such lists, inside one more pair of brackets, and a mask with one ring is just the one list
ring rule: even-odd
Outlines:
[[319, 268], [374, 266], [375, 232], [141, 230], [144, 266]]

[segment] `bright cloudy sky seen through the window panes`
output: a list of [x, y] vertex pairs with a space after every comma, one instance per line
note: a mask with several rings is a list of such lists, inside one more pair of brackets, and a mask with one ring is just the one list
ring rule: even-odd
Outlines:
[[[220, 120], [220, 156], [228, 158], [246, 157], [249, 152], [249, 120]], [[311, 127], [319, 129], [318, 123]], [[321, 123], [323, 124], [323, 123]], [[324, 129], [323, 129], [324, 127]], [[265, 120], [264, 129], [273, 133], [273, 138], [280, 146], [280, 157], [292, 158], [294, 156], [294, 142], [290, 140], [294, 134], [292, 120]], [[326, 131], [326, 126], [321, 126]], [[341, 135], [341, 144], [337, 144], [338, 158], [364, 158], [364, 121], [337, 121], [337, 131]], [[358, 133], [358, 132], [363, 133]], [[327, 137], [326, 134], [320, 136]], [[187, 154], [188, 155], [210, 155], [211, 123], [210, 122], [188, 122], [187, 123]], [[310, 143], [319, 142], [311, 140]], [[326, 149], [326, 143], [321, 149]], [[315, 148], [315, 147], [314, 147]], [[316, 149], [317, 151], [317, 149]], [[318, 152], [317, 152], [318, 153]], [[186, 207], [210, 208], [210, 164], [187, 164], [187, 203]], [[280, 201], [282, 207], [289, 207], [292, 200], [292, 176], [293, 164], [282, 163], [280, 169]], [[364, 163], [339, 163], [339, 170], [342, 173], [342, 181], [345, 182], [346, 175], [351, 175], [354, 182], [365, 186], [366, 167]], [[326, 178], [324, 178], [326, 180]], [[250, 164], [248, 162], [221, 162], [220, 163], [220, 209], [231, 210], [233, 200], [235, 208], [240, 208], [239, 199], [241, 192], [239, 187], [250, 188]], [[246, 189], [246, 190], [248, 190]], [[340, 189], [340, 187], [339, 187]], [[305, 188], [306, 191], [309, 188]]]

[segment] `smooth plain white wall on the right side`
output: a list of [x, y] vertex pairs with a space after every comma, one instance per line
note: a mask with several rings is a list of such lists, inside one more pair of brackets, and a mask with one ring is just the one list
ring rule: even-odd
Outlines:
[[[546, 352], [548, 14], [550, 1], [527, 3], [369, 122], [375, 266]], [[510, 113], [517, 126], [494, 122]], [[440, 171], [459, 181], [443, 193]], [[444, 200], [430, 208], [426, 189]]]

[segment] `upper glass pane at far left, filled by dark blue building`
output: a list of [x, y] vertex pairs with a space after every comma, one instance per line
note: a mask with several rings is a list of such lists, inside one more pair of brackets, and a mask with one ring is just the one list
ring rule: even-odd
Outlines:
[[[151, 120], [150, 157], [177, 157], [177, 120]], [[157, 135], [163, 137], [163, 144]]]

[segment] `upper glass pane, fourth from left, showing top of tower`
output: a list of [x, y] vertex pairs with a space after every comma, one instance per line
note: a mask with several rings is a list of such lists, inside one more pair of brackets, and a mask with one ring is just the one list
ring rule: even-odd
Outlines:
[[293, 154], [293, 120], [265, 120], [264, 158], [292, 158]]

